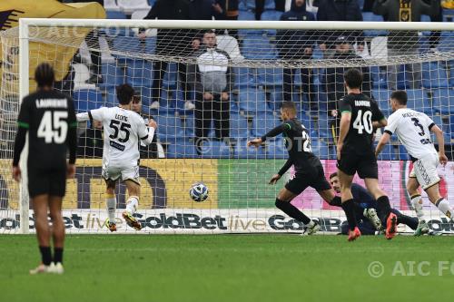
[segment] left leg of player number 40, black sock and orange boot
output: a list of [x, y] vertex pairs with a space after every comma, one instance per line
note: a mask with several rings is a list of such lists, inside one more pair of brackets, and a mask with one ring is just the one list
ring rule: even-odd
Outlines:
[[349, 222], [349, 241], [353, 241], [361, 235], [356, 220], [353, 195], [351, 194], [351, 182], [354, 175], [346, 174], [340, 169], [338, 169], [338, 175], [339, 181], [341, 182], [341, 207], [345, 212], [345, 216], [347, 216], [347, 221]]

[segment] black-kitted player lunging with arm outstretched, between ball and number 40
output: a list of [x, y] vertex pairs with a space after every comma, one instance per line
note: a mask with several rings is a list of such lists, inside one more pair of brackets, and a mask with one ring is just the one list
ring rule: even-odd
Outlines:
[[296, 105], [294, 102], [282, 102], [281, 119], [283, 123], [280, 126], [272, 129], [262, 138], [248, 141], [248, 146], [258, 147], [268, 138], [279, 134], [284, 136], [285, 145], [287, 151], [289, 151], [289, 160], [277, 174], [272, 176], [270, 184], [275, 184], [280, 180], [291, 165], [294, 166], [295, 176], [279, 192], [276, 198], [276, 207], [292, 219], [304, 223], [306, 226], [304, 233], [312, 235], [320, 229], [319, 224], [293, 206], [291, 200], [300, 195], [307, 187], [317, 190], [321, 198], [331, 205], [340, 206], [341, 198], [336, 196], [334, 190], [331, 189], [319, 158], [311, 151], [311, 138], [304, 125], [296, 119]]

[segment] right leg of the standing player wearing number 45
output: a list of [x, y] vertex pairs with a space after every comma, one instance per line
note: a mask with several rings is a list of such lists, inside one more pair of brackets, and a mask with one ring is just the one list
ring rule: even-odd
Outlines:
[[52, 272], [63, 274], [64, 222], [62, 217], [62, 200], [60, 196], [49, 197], [49, 211], [52, 219], [52, 238], [54, 239], [54, 267]]

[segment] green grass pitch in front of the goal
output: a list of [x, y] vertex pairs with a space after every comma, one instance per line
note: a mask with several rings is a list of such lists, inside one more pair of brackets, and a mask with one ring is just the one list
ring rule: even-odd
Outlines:
[[[361, 237], [347, 242], [344, 236], [74, 235], [66, 238], [64, 275], [29, 276], [28, 269], [39, 260], [35, 236], [5, 235], [0, 236], [0, 257], [2, 302], [402, 302], [454, 297], [452, 237]], [[382, 277], [370, 277], [372, 261], [383, 265]]]

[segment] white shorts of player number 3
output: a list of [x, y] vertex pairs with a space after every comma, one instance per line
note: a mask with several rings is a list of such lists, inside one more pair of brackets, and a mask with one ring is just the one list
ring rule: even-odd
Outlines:
[[438, 154], [427, 154], [413, 163], [413, 170], [410, 172], [411, 178], [416, 178], [423, 190], [439, 183]]

